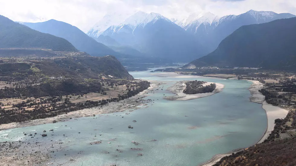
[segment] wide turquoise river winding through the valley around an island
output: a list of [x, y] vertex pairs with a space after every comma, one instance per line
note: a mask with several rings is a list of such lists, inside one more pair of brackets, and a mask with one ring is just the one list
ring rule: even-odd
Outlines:
[[[261, 104], [249, 101], [251, 82], [193, 76], [158, 77], [149, 71], [130, 74], [135, 78], [166, 81], [161, 85], [162, 89], [145, 98], [153, 101], [148, 107], [3, 130], [0, 131], [0, 142], [39, 142], [44, 143], [43, 148], [51, 148], [48, 146], [50, 142], [63, 142], [53, 153], [51, 162], [55, 165], [196, 166], [214, 155], [255, 144], [266, 130], [265, 110]], [[179, 80], [222, 83], [225, 88], [220, 93], [201, 99], [163, 99], [163, 96], [173, 95], [166, 89]], [[128, 128], [129, 125], [134, 128]], [[50, 129], [54, 129], [53, 135], [47, 133], [44, 138], [31, 139], [23, 134]], [[95, 141], [101, 143], [90, 144]]]

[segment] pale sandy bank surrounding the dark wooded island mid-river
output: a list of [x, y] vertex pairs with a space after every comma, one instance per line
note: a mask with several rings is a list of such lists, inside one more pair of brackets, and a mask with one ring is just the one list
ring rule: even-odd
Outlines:
[[[215, 83], [216, 89], [213, 92], [198, 93], [198, 94], [185, 94], [185, 93], [183, 93], [183, 91], [186, 89], [186, 82], [187, 81], [178, 81], [173, 86], [169, 87], [168, 90], [171, 91], [172, 93], [175, 93], [176, 95], [175, 96], [167, 96], [164, 99], [166, 99], [166, 100], [182, 100], [182, 101], [199, 99], [199, 98], [214, 95], [215, 93], [219, 93], [224, 88], [223, 84]], [[203, 86], [208, 86], [211, 83], [212, 82], [206, 82], [203, 84]]]

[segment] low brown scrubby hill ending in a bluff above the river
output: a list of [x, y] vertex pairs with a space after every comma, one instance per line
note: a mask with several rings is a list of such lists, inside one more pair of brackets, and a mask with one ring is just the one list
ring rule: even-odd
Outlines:
[[[56, 55], [46, 58], [18, 58], [18, 61], [10, 60], [9, 63], [0, 62], [0, 78], [12, 76], [18, 73], [18, 77], [27, 77], [30, 73], [38, 71], [43, 77], [67, 76], [72, 79], [84, 80], [85, 78], [98, 79], [101, 76], [112, 76], [116, 78], [133, 78], [121, 63], [111, 55], [104, 57], [93, 57], [82, 53], [81, 55]], [[23, 59], [23, 61], [22, 61]], [[35, 68], [36, 67], [36, 68]]]

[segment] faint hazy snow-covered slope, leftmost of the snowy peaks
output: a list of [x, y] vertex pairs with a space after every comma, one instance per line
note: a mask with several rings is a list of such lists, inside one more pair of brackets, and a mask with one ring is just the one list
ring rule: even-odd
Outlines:
[[99, 20], [88, 32], [88, 36], [97, 38], [105, 30], [107, 30], [112, 25], [118, 25], [122, 23], [128, 17], [126, 14], [106, 14], [101, 20]]

